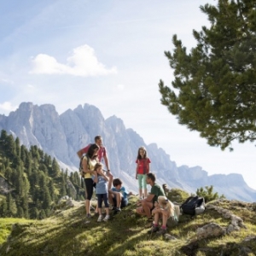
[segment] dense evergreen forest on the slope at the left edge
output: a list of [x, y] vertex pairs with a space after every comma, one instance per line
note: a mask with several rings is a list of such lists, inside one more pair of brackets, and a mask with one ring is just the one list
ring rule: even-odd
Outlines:
[[55, 158], [37, 146], [27, 149], [6, 131], [0, 136], [0, 178], [8, 192], [0, 195], [0, 218], [49, 217], [53, 207], [68, 195], [84, 200], [84, 187], [78, 172], [60, 169]]

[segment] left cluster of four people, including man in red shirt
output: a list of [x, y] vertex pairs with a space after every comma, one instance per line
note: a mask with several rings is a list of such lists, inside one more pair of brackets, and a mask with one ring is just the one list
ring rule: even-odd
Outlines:
[[[96, 136], [95, 143], [87, 145], [78, 151], [79, 159], [82, 159], [82, 169], [85, 183], [85, 211], [87, 218], [91, 218], [91, 198], [93, 189], [96, 189], [97, 205], [96, 212], [99, 213], [98, 222], [108, 221], [109, 203], [113, 206], [115, 213], [121, 211], [121, 207], [128, 205], [128, 193], [122, 186], [119, 178], [113, 179], [113, 174], [109, 169], [109, 160], [106, 148], [102, 145], [102, 137]], [[85, 154], [85, 157], [83, 157]], [[103, 170], [104, 160], [107, 170]], [[111, 185], [113, 183], [113, 188]], [[106, 216], [102, 218], [102, 201], [104, 201]]]

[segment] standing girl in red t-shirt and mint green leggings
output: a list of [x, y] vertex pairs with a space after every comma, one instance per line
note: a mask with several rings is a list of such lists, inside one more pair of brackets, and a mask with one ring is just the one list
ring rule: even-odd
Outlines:
[[144, 189], [144, 198], [146, 198], [148, 194], [146, 174], [149, 172], [149, 164], [151, 163], [151, 161], [147, 156], [147, 150], [145, 147], [138, 148], [136, 163], [137, 163], [136, 179], [138, 180], [139, 197], [140, 197], [140, 200], [142, 200], [143, 189]]

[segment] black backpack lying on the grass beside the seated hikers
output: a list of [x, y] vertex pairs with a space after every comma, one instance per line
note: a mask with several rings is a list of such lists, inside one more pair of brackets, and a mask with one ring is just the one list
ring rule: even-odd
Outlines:
[[205, 199], [204, 197], [190, 196], [183, 204], [180, 206], [181, 211], [184, 214], [189, 214], [191, 216], [201, 214], [205, 211]]

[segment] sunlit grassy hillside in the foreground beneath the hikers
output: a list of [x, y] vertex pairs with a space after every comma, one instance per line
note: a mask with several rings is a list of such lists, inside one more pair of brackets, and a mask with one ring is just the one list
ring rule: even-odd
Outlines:
[[[256, 253], [256, 207], [253, 204], [211, 201], [206, 211], [196, 218], [180, 216], [179, 224], [168, 229], [168, 234], [172, 235], [169, 240], [148, 234], [150, 223], [135, 213], [137, 197], [131, 196], [130, 201], [131, 204], [112, 216], [108, 223], [97, 223], [96, 216], [85, 218], [83, 202], [74, 202], [75, 207], [67, 209], [65, 201], [50, 218], [43, 220], [2, 218], [0, 255], [253, 256]], [[197, 238], [196, 230], [207, 224], [227, 227], [230, 224], [227, 212], [241, 217], [244, 227], [224, 236]]]

